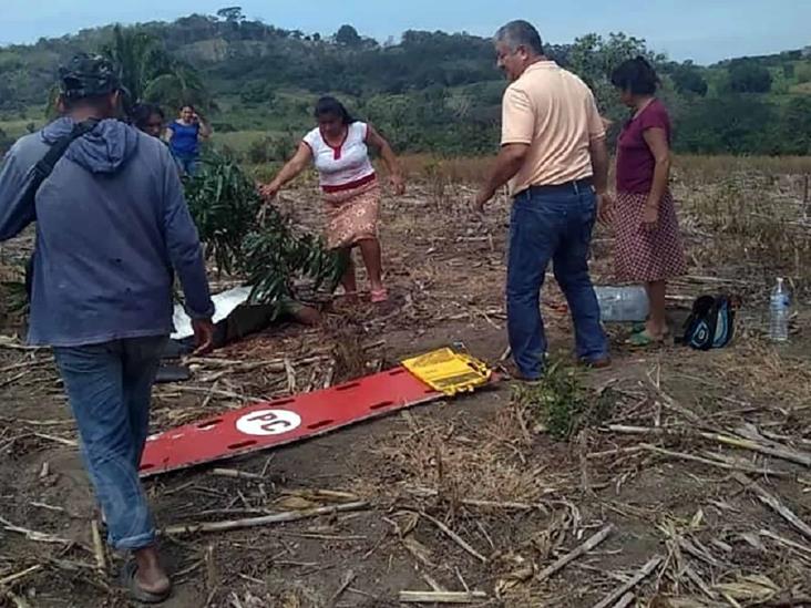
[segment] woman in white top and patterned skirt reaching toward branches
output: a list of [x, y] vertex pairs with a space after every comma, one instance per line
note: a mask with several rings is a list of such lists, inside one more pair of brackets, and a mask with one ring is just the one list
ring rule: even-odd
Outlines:
[[318, 126], [298, 146], [296, 155], [276, 178], [261, 187], [265, 198], [273, 198], [288, 182], [310, 163], [320, 175], [327, 212], [327, 247], [339, 249], [348, 257], [348, 268], [341, 279], [347, 298], [355, 299], [358, 285], [351, 249], [360, 247], [371, 284], [371, 301], [384, 302], [378, 214], [380, 185], [369, 159], [369, 146], [380, 151], [389, 171], [394, 194], [402, 195], [406, 185], [400, 166], [389, 143], [374, 128], [352, 118], [347, 109], [333, 97], [322, 97], [316, 104]]

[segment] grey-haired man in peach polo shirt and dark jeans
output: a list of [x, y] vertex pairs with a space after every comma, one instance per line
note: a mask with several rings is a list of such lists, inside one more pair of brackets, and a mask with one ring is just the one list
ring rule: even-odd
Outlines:
[[502, 148], [476, 196], [480, 210], [504, 184], [513, 208], [507, 262], [507, 330], [517, 377], [543, 374], [541, 288], [550, 261], [568, 301], [578, 359], [606, 367], [608, 341], [588, 276], [588, 250], [606, 198], [608, 153], [594, 95], [544, 55], [535, 28], [512, 21], [495, 34], [504, 93]]

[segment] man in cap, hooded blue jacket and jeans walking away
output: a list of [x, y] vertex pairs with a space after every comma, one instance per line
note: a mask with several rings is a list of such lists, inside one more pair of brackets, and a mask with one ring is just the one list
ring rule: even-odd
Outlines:
[[[162, 601], [170, 579], [138, 480], [152, 385], [172, 332], [174, 271], [202, 349], [214, 305], [175, 163], [158, 140], [115, 120], [115, 66], [78, 55], [60, 71], [63, 117], [9, 151], [0, 171], [0, 241], [37, 221], [29, 340], [53, 347], [110, 543], [134, 555], [136, 599]], [[32, 167], [74, 125], [32, 205]]]

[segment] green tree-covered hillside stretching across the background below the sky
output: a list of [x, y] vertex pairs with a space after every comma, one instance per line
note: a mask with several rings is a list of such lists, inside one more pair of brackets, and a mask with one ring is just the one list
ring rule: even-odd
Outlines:
[[[505, 83], [484, 38], [408, 31], [399, 43], [379, 44], [351, 25], [330, 35], [307, 34], [245, 20], [238, 10], [144, 23], [136, 31], [198, 72], [216, 103], [209, 115], [219, 142], [253, 162], [287, 154], [324, 93], [374, 122], [401, 151], [474, 154], [497, 143]], [[100, 50], [112, 35], [110, 25], [0, 48], [6, 141], [41, 124], [60, 63], [78, 51]], [[700, 66], [669, 62], [650, 53], [645, 41], [623, 34], [588, 34], [548, 49], [593, 86], [603, 111], [617, 121], [626, 111], [607, 74], [639, 53], [659, 66], [679, 150], [811, 153], [811, 59], [802, 51]]]

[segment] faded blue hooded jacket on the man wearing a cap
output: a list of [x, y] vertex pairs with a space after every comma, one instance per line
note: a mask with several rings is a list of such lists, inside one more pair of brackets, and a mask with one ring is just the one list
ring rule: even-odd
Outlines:
[[0, 241], [37, 221], [29, 341], [76, 347], [170, 334], [173, 267], [193, 319], [214, 313], [197, 229], [166, 146], [119, 121], [74, 141], [37, 195], [32, 167], [73, 122], [17, 142], [0, 171]]

